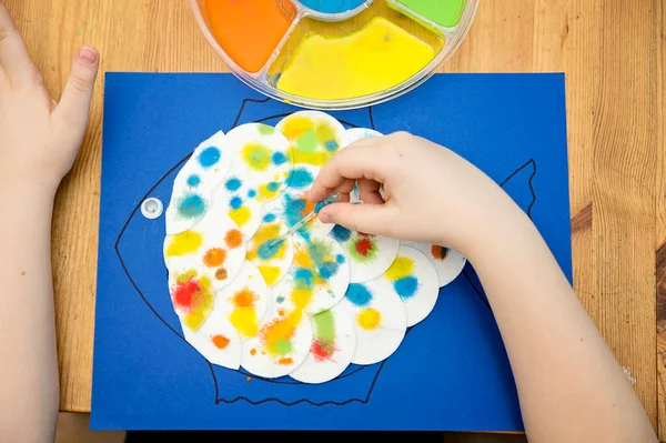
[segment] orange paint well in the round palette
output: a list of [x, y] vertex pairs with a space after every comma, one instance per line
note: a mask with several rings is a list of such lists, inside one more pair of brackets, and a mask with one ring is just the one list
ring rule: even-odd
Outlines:
[[295, 8], [289, 0], [208, 0], [211, 32], [242, 69], [260, 71], [292, 24]]

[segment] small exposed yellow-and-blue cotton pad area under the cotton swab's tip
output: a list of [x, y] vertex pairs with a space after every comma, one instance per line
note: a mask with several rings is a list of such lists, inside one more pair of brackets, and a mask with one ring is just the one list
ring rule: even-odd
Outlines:
[[271, 245], [271, 241], [279, 239], [286, 232], [286, 225], [280, 220], [262, 222], [248, 243], [246, 258], [259, 268], [270, 288], [286, 275], [294, 259], [294, 246], [291, 236], [276, 245]]

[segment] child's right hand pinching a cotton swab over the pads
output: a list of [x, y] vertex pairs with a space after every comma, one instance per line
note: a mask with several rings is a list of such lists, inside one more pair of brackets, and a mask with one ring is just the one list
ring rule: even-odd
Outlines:
[[[335, 203], [322, 222], [402, 240], [432, 242], [463, 254], [483, 246], [522, 214], [481, 170], [453, 151], [398, 132], [364, 139], [337, 152], [322, 168], [310, 198], [349, 194], [359, 183], [365, 204]], [[380, 185], [385, 201], [379, 193]]]

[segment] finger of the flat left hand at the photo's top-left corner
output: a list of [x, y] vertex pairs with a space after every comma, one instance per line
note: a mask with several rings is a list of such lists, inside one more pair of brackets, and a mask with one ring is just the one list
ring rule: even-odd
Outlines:
[[10, 83], [17, 84], [38, 75], [26, 42], [14, 26], [9, 11], [0, 2], [0, 67]]

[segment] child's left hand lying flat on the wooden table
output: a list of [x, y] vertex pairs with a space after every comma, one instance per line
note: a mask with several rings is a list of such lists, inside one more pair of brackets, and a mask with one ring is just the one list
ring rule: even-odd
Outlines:
[[56, 193], [83, 140], [99, 60], [94, 48], [79, 49], [57, 103], [0, 2], [0, 193]]

